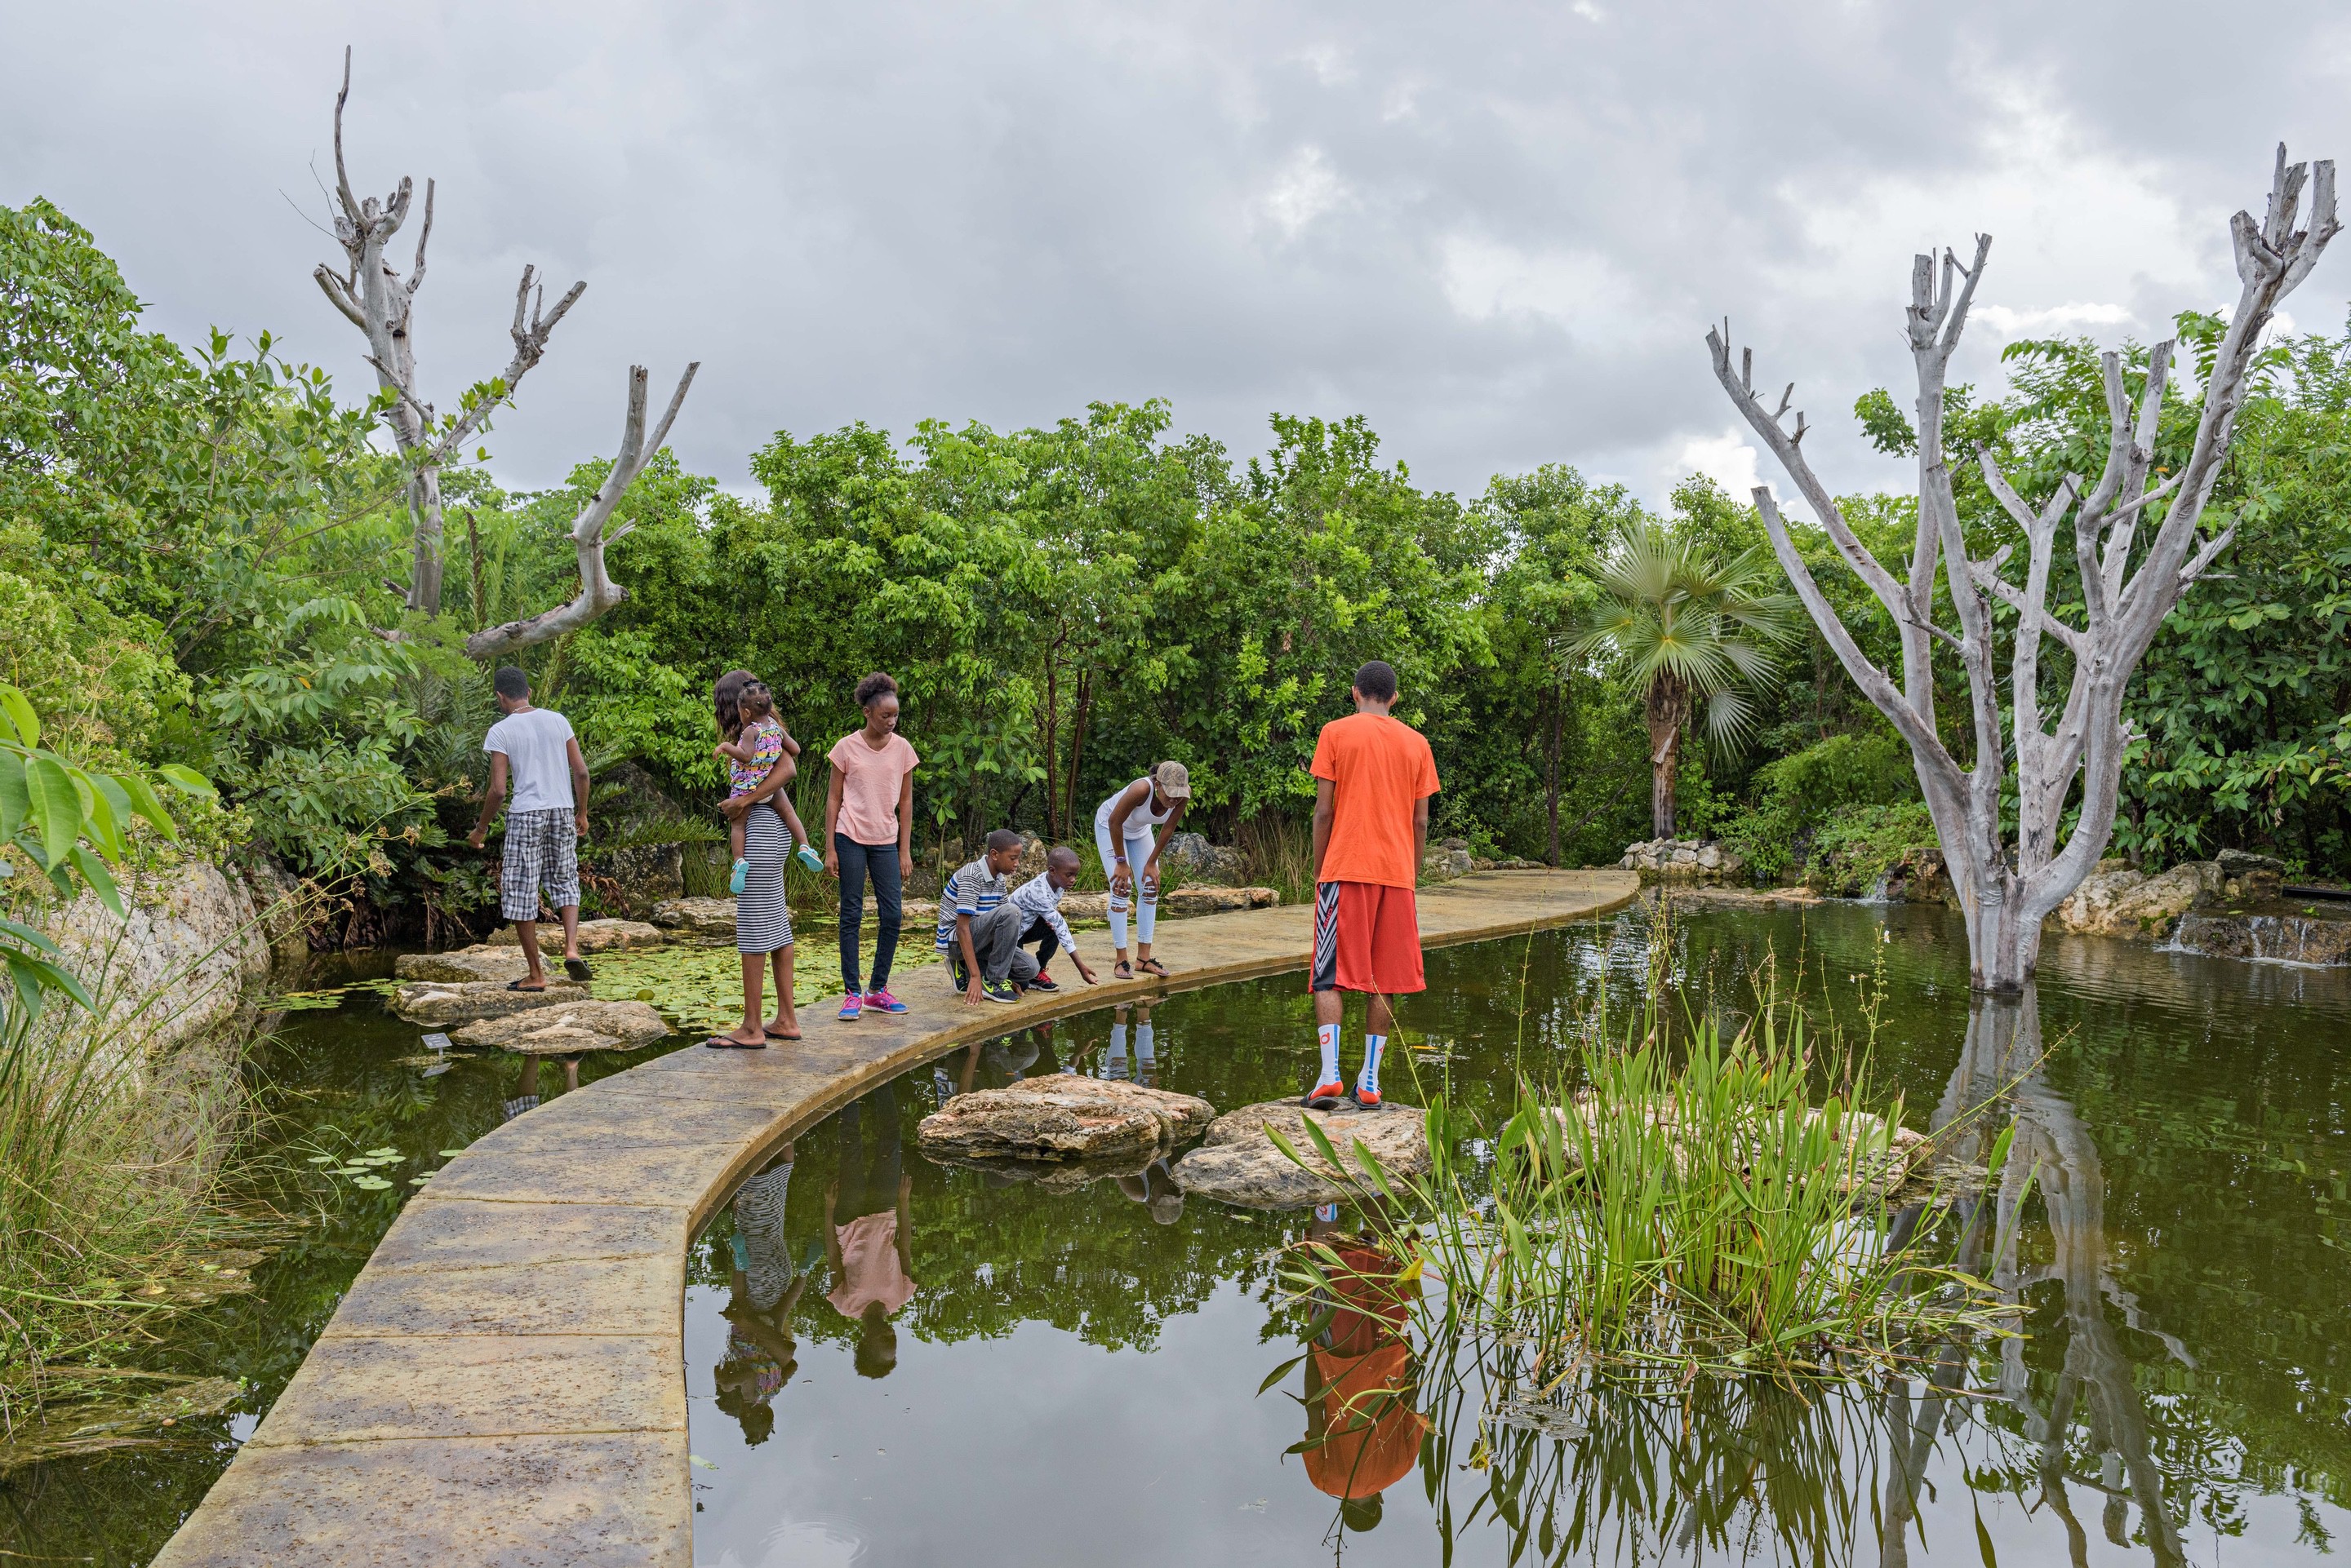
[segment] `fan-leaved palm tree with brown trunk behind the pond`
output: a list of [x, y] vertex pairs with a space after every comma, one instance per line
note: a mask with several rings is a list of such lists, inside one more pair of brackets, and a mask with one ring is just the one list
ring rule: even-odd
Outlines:
[[1674, 837], [1681, 731], [1697, 703], [1707, 708], [1707, 738], [1737, 750], [1754, 724], [1747, 689], [1780, 679], [1773, 649], [1796, 639], [1796, 599], [1777, 583], [1770, 552], [1721, 562], [1655, 522], [1627, 524], [1601, 562], [1601, 602], [1570, 654], [1601, 654], [1643, 686], [1648, 813], [1660, 839]]

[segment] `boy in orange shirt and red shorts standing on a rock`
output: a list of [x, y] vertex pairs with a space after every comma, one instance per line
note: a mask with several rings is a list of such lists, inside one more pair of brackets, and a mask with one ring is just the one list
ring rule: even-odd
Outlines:
[[1380, 1051], [1394, 1025], [1389, 997], [1425, 990], [1413, 884], [1429, 844], [1436, 757], [1418, 729], [1387, 717], [1396, 672], [1371, 661], [1354, 672], [1354, 715], [1314, 741], [1314, 1025], [1321, 1077], [1307, 1105], [1347, 1103], [1338, 1072], [1342, 992], [1366, 992], [1364, 1072], [1354, 1103], [1380, 1110]]

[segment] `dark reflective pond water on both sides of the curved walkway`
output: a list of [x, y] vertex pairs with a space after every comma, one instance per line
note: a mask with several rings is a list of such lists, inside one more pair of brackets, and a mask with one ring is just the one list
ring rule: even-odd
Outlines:
[[[1389, 1098], [1418, 1100], [1420, 1072], [1498, 1107], [1514, 1067], [1573, 1048], [1601, 992], [1639, 994], [1646, 938], [1646, 917], [1627, 914], [1432, 952], [1429, 992], [1404, 1011], [1411, 1067], [1392, 1048], [1382, 1074]], [[1801, 954], [1815, 1006], [1855, 1027], [1881, 992], [1878, 1077], [1928, 1126], [1965, 1063], [1956, 922], [1904, 905], [1704, 910], [1672, 933], [1686, 994], [1740, 1001], [1766, 954], [1782, 973]], [[1300, 980], [957, 1051], [806, 1131], [788, 1171], [755, 1178], [698, 1239], [684, 1340], [696, 1561], [2332, 1552], [2351, 1528], [2351, 971], [2067, 938], [2045, 952], [2038, 1004], [2048, 1056], [2017, 1084], [2017, 1147], [2034, 1147], [2052, 1197], [2024, 1211], [2027, 1338], [2008, 1356], [1954, 1359], [1940, 1387], [1697, 1387], [1585, 1406], [1582, 1436], [1495, 1429], [1486, 1443], [1474, 1408], [1432, 1394], [1382, 1418], [1349, 1450], [1352, 1474], [1328, 1446], [1295, 1448], [1326, 1425], [1312, 1368], [1366, 1345], [1326, 1342], [1260, 1392], [1314, 1349], [1272, 1265], [1314, 1215], [1183, 1201], [1154, 1173], [1049, 1192], [915, 1150], [945, 1095], [1011, 1077], [1138, 1077], [1220, 1107], [1293, 1095], [1314, 1051]], [[289, 1140], [334, 1128], [404, 1164], [374, 1192], [306, 1178], [320, 1222], [256, 1269], [256, 1295], [165, 1349], [183, 1371], [247, 1378], [240, 1415], [174, 1448], [14, 1476], [0, 1547], [108, 1563], [160, 1547], [292, 1375], [407, 1178], [508, 1114], [510, 1060], [428, 1077], [416, 1051], [364, 992], [289, 1016], [266, 1058], [306, 1095], [289, 1100]], [[590, 1058], [583, 1077], [625, 1065]], [[562, 1072], [538, 1091], [560, 1093]]]

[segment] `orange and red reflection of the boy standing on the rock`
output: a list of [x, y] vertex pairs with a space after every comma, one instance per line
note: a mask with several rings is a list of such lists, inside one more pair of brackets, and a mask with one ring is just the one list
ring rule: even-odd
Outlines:
[[[1307, 1481], [1340, 1500], [1340, 1523], [1380, 1523], [1380, 1493], [1420, 1462], [1429, 1422], [1413, 1408], [1404, 1324], [1420, 1279], [1396, 1279], [1396, 1260], [1373, 1239], [1338, 1227], [1338, 1204], [1314, 1211], [1307, 1237], [1338, 1253], [1319, 1309], [1331, 1314], [1307, 1340]], [[1317, 1312], [1321, 1316], [1321, 1312]]]

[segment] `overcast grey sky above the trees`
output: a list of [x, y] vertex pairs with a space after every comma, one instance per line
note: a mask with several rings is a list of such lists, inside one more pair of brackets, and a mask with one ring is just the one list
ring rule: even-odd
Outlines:
[[[266, 327], [357, 395], [310, 280], [355, 42], [353, 181], [440, 181], [426, 395], [505, 364], [524, 261], [588, 280], [494, 435], [508, 484], [611, 451], [630, 362], [698, 357], [672, 444], [729, 487], [776, 430], [1157, 395], [1244, 456], [1270, 411], [1364, 414], [1465, 496], [1568, 461], [1660, 498], [1754, 475], [1702, 343], [1728, 313], [1860, 489], [1904, 477], [1850, 409], [1902, 390], [1911, 252], [1991, 230], [1977, 381], [2017, 334], [2233, 299], [2273, 143], [2351, 155], [2346, 16], [0, 0], [0, 202], [96, 230], [153, 324]], [[2344, 254], [2304, 327], [2339, 327]]]

